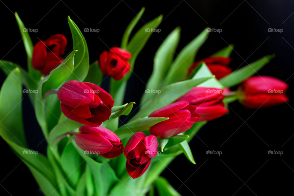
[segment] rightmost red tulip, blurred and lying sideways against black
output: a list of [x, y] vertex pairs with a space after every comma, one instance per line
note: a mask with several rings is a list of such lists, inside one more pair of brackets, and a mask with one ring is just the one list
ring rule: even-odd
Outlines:
[[270, 107], [289, 101], [288, 84], [270, 76], [253, 76], [239, 86], [239, 100], [247, 108]]

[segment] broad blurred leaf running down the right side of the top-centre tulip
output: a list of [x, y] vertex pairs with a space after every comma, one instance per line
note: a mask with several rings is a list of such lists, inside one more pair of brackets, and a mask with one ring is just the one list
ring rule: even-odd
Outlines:
[[146, 29], [156, 29], [157, 26], [160, 24], [161, 20], [162, 16], [160, 15], [159, 17], [148, 22], [147, 24], [142, 26], [130, 40], [126, 50], [129, 51], [132, 55], [132, 58], [130, 59], [131, 70], [126, 74], [126, 76], [123, 79], [119, 81], [116, 81], [113, 78], [111, 78], [110, 80], [110, 94], [112, 98], [115, 100], [115, 105], [121, 105], [123, 103], [126, 91], [126, 81], [129, 79], [133, 72], [134, 63], [136, 61], [138, 54], [141, 52], [149, 37], [152, 35], [152, 32], [148, 32], [146, 31]]

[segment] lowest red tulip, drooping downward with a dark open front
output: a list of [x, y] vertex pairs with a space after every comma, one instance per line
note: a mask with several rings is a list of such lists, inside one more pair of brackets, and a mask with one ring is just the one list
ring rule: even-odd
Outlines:
[[158, 141], [155, 135], [146, 135], [137, 132], [126, 143], [126, 171], [132, 178], [140, 177], [149, 167], [151, 159], [158, 152]]

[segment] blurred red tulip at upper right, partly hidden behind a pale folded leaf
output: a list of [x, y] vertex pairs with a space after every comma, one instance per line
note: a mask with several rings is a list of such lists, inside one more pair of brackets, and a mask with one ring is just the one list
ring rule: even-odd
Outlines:
[[208, 57], [194, 62], [188, 71], [188, 75], [190, 75], [202, 61], [205, 62], [211, 73], [215, 75], [218, 80], [232, 72], [232, 69], [228, 67], [228, 64], [231, 62], [230, 57]]

